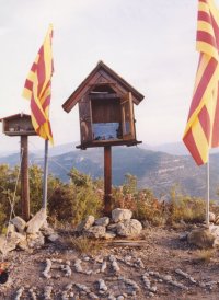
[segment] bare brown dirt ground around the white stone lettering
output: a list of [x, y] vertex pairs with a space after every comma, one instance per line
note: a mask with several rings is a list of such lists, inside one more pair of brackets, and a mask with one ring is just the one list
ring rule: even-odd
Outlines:
[[[21, 287], [24, 288], [23, 293], [16, 299], [34, 299], [30, 293], [31, 288], [35, 291], [35, 299], [92, 299], [76, 284], [89, 287], [97, 299], [113, 299], [110, 295], [113, 295], [114, 299], [130, 300], [219, 299], [219, 252], [203, 251], [188, 245], [187, 241], [180, 239], [183, 232], [185, 229], [182, 228], [147, 228], [141, 240], [132, 240], [129, 245], [106, 242], [95, 255], [85, 255], [77, 253], [69, 245], [66, 233], [61, 231], [60, 240], [56, 243], [46, 243], [43, 249], [32, 252], [13, 251], [8, 254], [5, 259], [9, 262], [10, 276], [7, 284], [0, 285], [0, 299], [15, 299]], [[119, 266], [117, 273], [112, 268], [110, 255], [116, 257]], [[49, 272], [50, 278], [43, 276], [46, 258], [55, 259]], [[82, 262], [83, 273], [76, 270], [77, 258]], [[65, 276], [65, 270], [61, 270], [61, 264], [65, 265], [66, 262], [70, 264], [72, 272], [68, 277]], [[106, 269], [97, 273], [103, 262], [106, 262]], [[193, 279], [177, 274], [176, 269]], [[89, 274], [90, 270], [92, 274]], [[147, 274], [150, 286], [155, 287], [154, 292], [143, 282], [143, 274]], [[131, 288], [123, 278], [135, 281], [138, 289]], [[99, 279], [104, 280], [107, 291], [100, 293]], [[174, 286], [172, 281], [181, 284], [181, 287]], [[73, 284], [71, 293], [64, 298], [62, 292], [68, 284]], [[51, 287], [50, 298], [44, 296], [47, 286]]]

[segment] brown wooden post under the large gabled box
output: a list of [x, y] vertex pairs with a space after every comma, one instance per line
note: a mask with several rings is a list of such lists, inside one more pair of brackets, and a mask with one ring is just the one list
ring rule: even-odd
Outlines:
[[104, 147], [104, 212], [110, 216], [112, 209], [112, 151]]

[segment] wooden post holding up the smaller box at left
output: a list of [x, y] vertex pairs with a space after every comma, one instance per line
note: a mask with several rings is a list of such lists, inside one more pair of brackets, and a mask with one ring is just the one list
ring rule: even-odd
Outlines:
[[30, 220], [30, 187], [28, 187], [28, 136], [21, 136], [21, 197], [22, 218]]

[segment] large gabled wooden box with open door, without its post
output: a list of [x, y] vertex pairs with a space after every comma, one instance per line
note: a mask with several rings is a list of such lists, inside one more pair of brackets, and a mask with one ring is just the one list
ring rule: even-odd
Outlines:
[[64, 103], [69, 113], [79, 104], [81, 145], [78, 148], [139, 143], [134, 104], [143, 95], [100, 61]]

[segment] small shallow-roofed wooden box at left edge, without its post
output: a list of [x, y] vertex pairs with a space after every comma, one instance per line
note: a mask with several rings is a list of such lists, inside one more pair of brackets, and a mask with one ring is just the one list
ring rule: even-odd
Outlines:
[[31, 116], [26, 114], [16, 114], [1, 118], [2, 131], [7, 136], [35, 136], [36, 132], [32, 125]]

